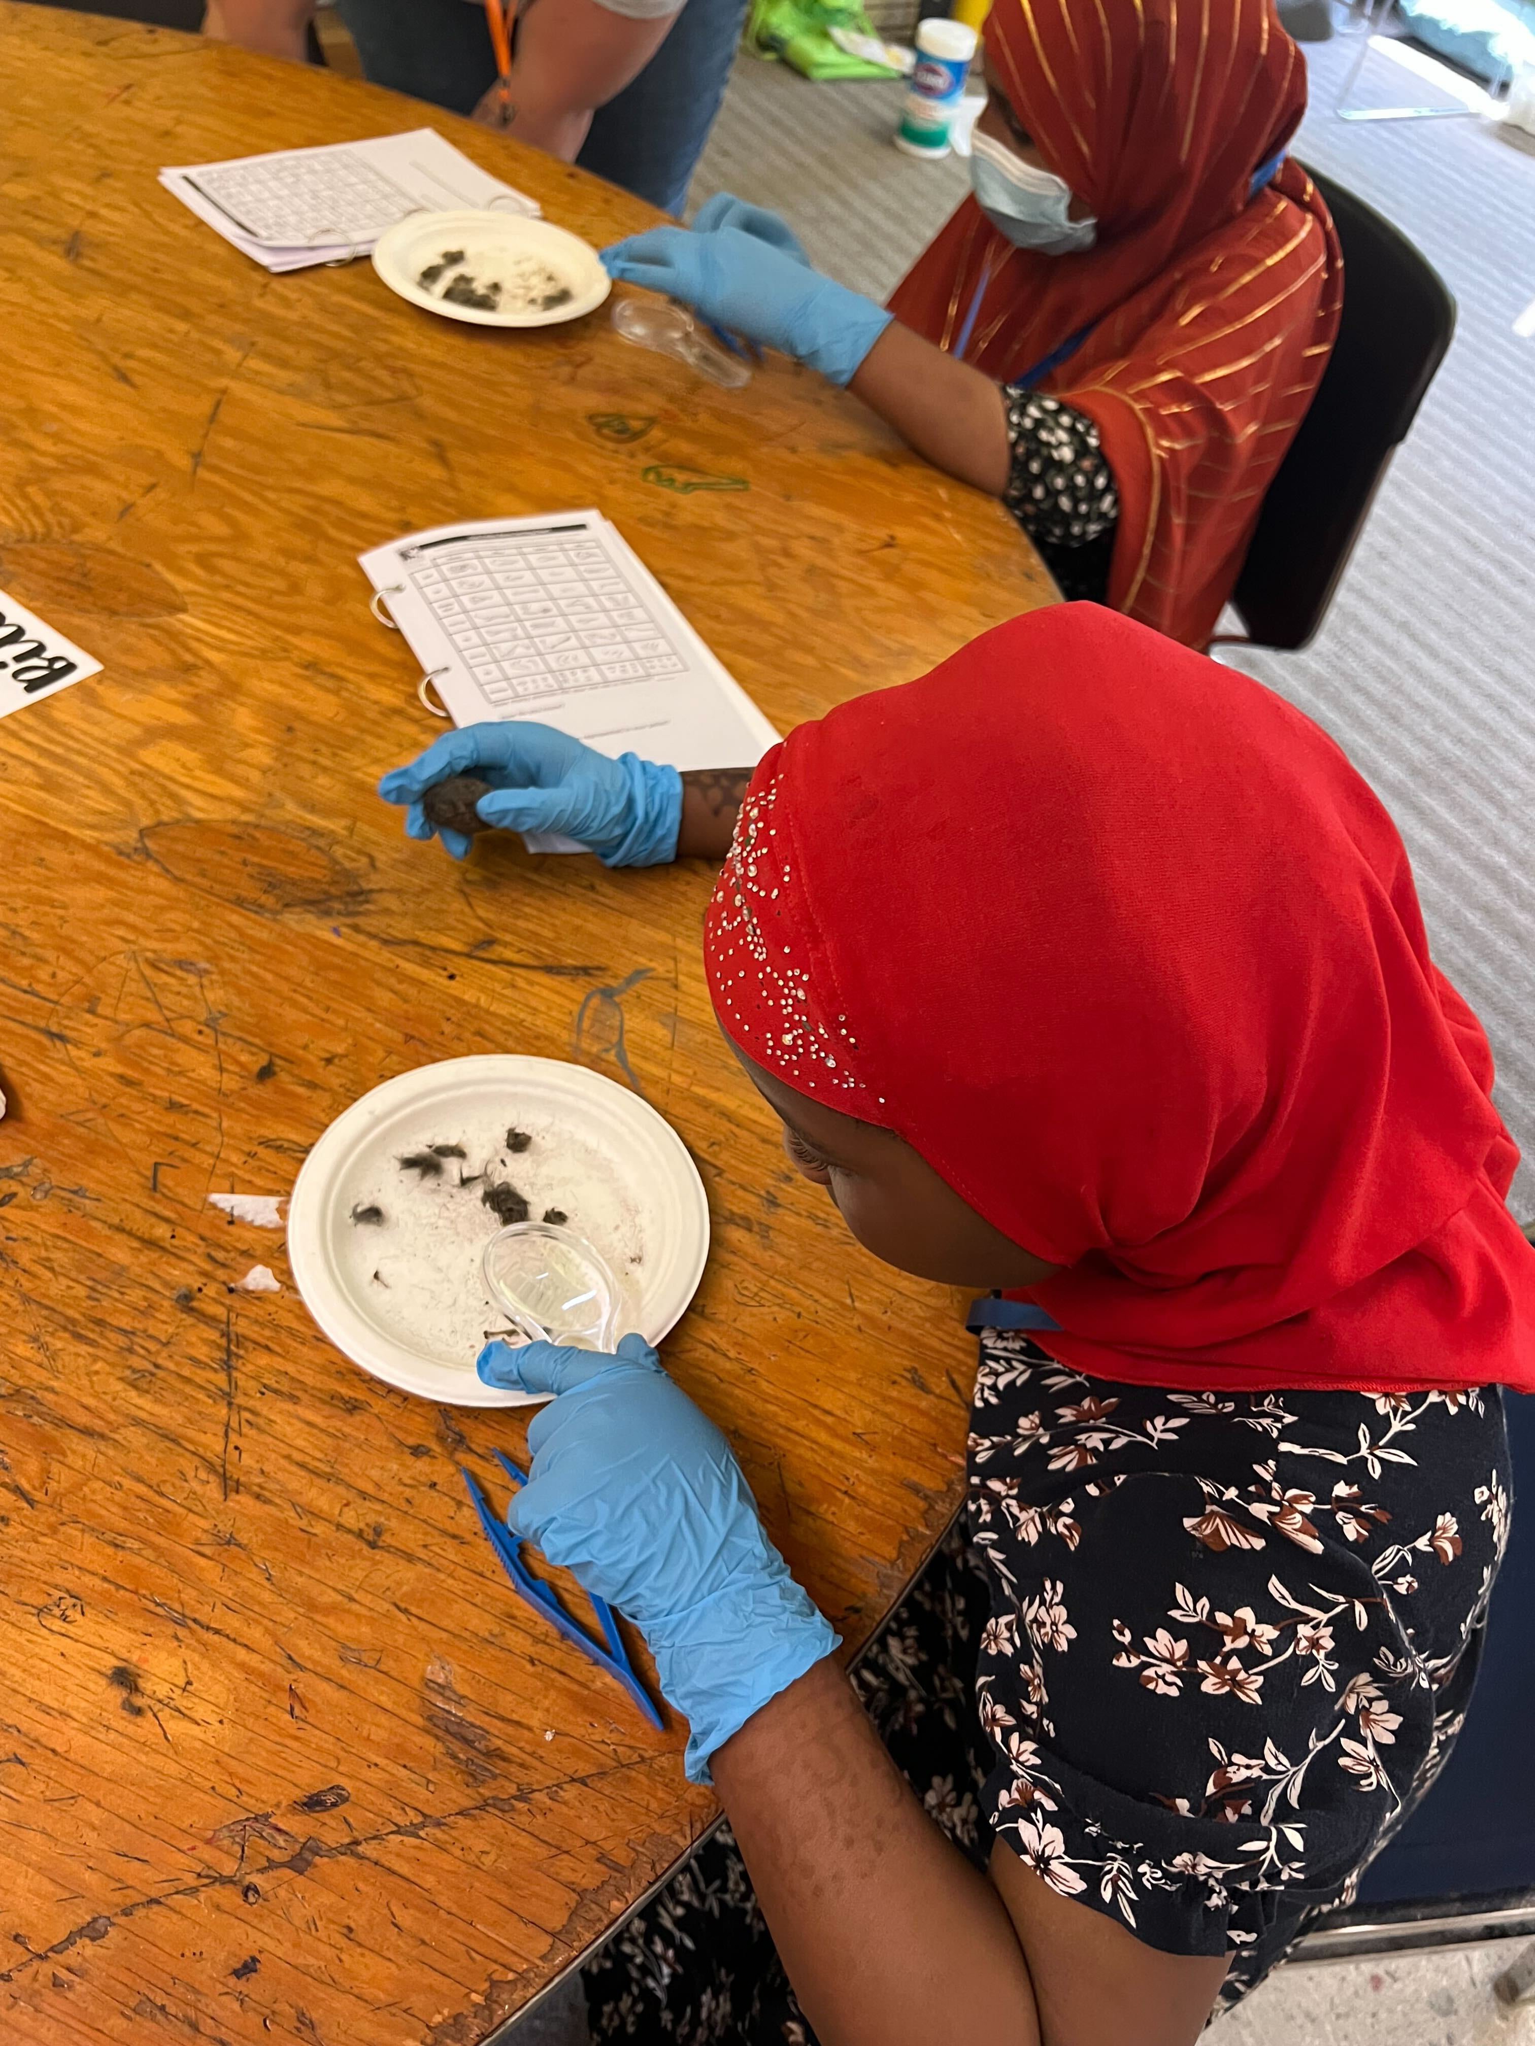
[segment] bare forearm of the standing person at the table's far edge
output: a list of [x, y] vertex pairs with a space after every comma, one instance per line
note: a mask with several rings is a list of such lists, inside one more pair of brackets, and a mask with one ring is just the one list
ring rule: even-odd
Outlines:
[[645, 70], [673, 20], [614, 14], [600, 0], [530, 0], [518, 16], [506, 102], [493, 86], [475, 117], [569, 164], [596, 108]]

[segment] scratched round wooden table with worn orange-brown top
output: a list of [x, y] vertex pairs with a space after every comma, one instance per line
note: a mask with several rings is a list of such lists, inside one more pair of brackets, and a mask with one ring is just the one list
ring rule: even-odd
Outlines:
[[471, 2046], [712, 1803], [499, 1582], [456, 1463], [520, 1420], [372, 1383], [207, 1195], [428, 1060], [632, 1070], [714, 1219], [667, 1359], [851, 1645], [956, 1504], [972, 1359], [741, 1086], [702, 868], [401, 837], [375, 777], [440, 726], [354, 557], [600, 505], [784, 728], [1052, 591], [808, 372], [270, 278], [156, 170], [430, 119], [598, 243], [651, 219], [608, 186], [119, 20], [4, 6], [0, 78], [0, 587], [104, 663], [0, 724], [0, 2034]]

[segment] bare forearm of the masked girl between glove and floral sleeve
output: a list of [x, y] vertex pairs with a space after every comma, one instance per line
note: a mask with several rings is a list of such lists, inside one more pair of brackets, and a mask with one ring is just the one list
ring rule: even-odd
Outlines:
[[1001, 497], [1011, 450], [1003, 391], [991, 376], [892, 319], [849, 389], [933, 469]]

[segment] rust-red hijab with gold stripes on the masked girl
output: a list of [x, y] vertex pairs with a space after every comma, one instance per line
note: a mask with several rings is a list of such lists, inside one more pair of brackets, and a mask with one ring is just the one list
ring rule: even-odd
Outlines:
[[1263, 491], [1326, 368], [1343, 258], [1326, 205], [1285, 162], [1306, 65], [1271, 0], [997, 0], [986, 57], [1050, 170], [1097, 217], [1072, 256], [1015, 250], [974, 198], [890, 309], [968, 362], [1025, 376], [1099, 428], [1120, 485], [1115, 610], [1203, 647]]

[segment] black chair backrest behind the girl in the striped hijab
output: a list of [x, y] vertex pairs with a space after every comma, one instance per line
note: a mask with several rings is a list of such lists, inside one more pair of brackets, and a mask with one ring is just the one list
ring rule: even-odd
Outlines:
[[1408, 237], [1332, 178], [1312, 178], [1343, 243], [1343, 321], [1232, 591], [1259, 647], [1296, 649], [1316, 632], [1455, 331], [1455, 301]]

